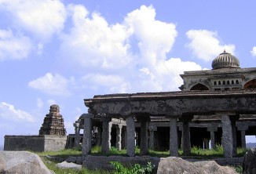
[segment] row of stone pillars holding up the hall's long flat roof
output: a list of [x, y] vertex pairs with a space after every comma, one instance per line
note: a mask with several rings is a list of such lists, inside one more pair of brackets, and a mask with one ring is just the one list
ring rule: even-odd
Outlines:
[[[222, 125], [222, 146], [224, 149], [224, 157], [232, 158], [236, 155], [236, 119], [235, 117], [229, 116], [228, 114], [221, 115], [221, 125]], [[82, 154], [90, 154], [91, 150], [91, 139], [92, 139], [92, 119], [93, 114], [86, 114], [84, 118], [84, 132], [83, 132], [83, 144], [82, 144]], [[183, 150], [183, 155], [191, 154], [191, 143], [190, 143], [190, 132], [188, 122], [192, 120], [192, 117], [180, 118], [183, 122], [182, 124], [182, 136], [181, 136], [181, 147]], [[141, 122], [141, 155], [148, 154], [148, 128], [146, 119], [137, 120]], [[111, 121], [103, 121], [102, 125], [102, 152], [108, 152], [110, 148], [111, 140]], [[121, 149], [121, 130], [120, 127], [117, 131], [117, 148]], [[242, 144], [245, 143], [245, 131], [242, 131]], [[150, 134], [153, 136], [153, 134]], [[214, 131], [210, 131], [211, 145], [214, 147]], [[149, 137], [152, 139], [153, 137]], [[244, 144], [243, 144], [244, 145]], [[126, 154], [130, 157], [135, 156], [135, 122], [133, 115], [126, 118]], [[152, 147], [152, 141], [150, 141], [149, 147]], [[245, 146], [244, 146], [245, 147]], [[177, 136], [177, 117], [170, 118], [170, 156], [178, 156], [178, 136]]]

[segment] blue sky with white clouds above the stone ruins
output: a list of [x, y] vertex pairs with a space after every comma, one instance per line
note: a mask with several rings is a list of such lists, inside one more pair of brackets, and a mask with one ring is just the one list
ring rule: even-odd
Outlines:
[[[51, 104], [67, 133], [94, 95], [178, 91], [224, 51], [256, 63], [256, 1], [0, 0], [0, 145], [38, 135]], [[256, 142], [255, 136], [251, 138]]]

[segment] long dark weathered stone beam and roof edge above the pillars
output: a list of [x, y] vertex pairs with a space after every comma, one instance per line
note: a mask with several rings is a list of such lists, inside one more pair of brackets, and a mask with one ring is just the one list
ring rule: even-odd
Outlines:
[[[255, 113], [256, 93], [252, 91], [230, 92], [146, 92], [112, 94], [85, 99], [86, 107], [97, 114], [148, 113], [153, 115], [209, 114], [221, 111]], [[240, 103], [237, 103], [240, 101]]]

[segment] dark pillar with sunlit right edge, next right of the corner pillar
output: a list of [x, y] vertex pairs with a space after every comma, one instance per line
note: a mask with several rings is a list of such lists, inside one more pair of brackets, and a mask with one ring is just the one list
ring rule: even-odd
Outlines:
[[101, 152], [108, 153], [111, 147], [111, 130], [112, 122], [111, 118], [103, 118], [102, 120], [102, 142], [101, 142]]

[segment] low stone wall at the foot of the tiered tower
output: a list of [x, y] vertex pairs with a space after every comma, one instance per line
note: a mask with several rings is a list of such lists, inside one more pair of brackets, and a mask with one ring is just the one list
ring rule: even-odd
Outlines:
[[5, 136], [4, 150], [63, 150], [67, 136]]

